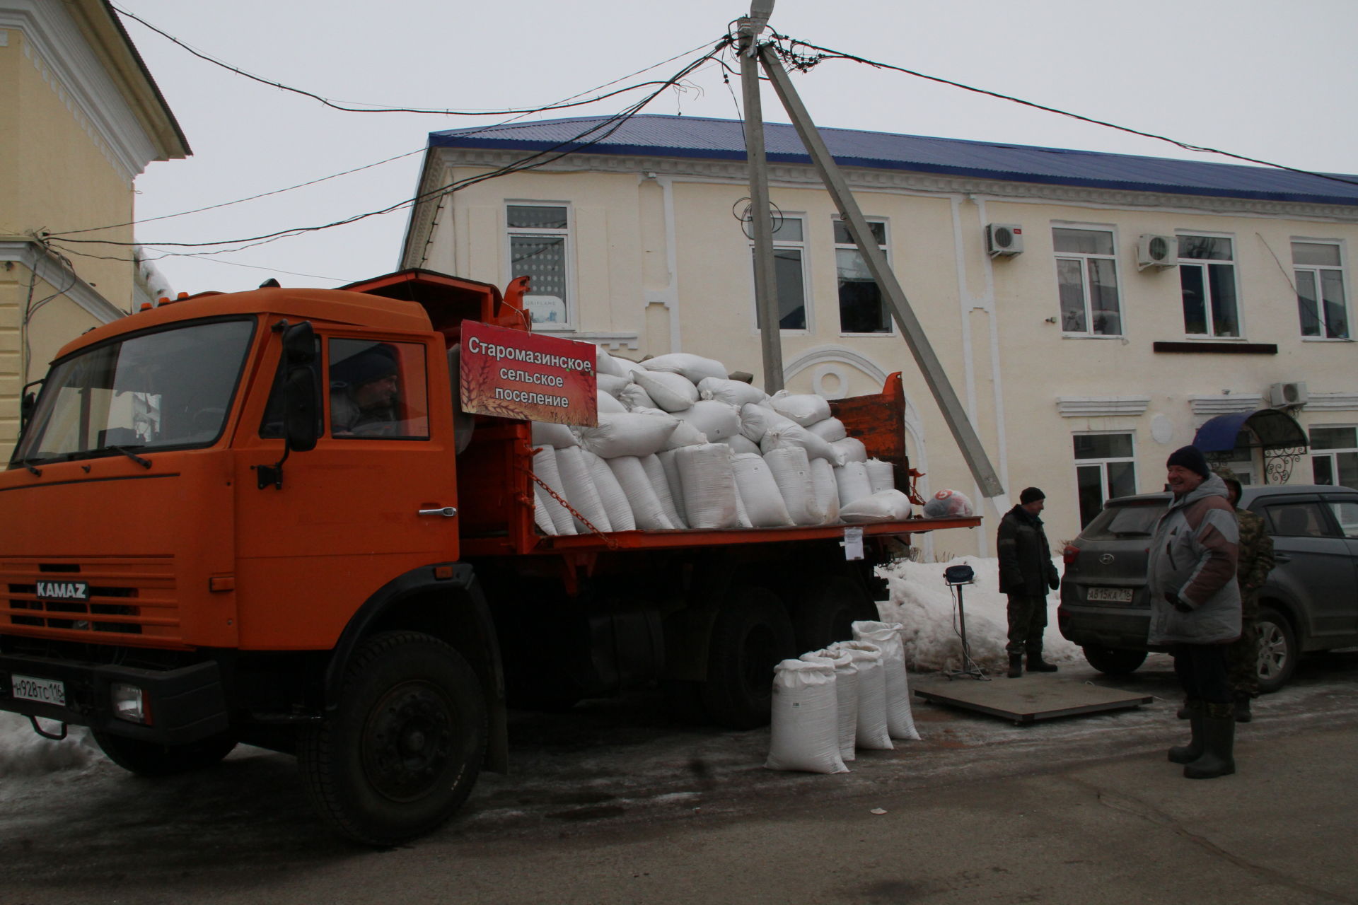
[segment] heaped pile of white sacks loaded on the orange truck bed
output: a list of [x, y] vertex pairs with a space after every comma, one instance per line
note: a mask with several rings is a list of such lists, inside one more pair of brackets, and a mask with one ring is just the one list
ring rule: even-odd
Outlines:
[[[720, 361], [598, 358], [599, 423], [534, 422], [532, 471], [599, 531], [777, 528], [910, 517], [892, 465], [868, 459], [815, 395], [770, 396]], [[535, 486], [547, 535], [588, 528]]]

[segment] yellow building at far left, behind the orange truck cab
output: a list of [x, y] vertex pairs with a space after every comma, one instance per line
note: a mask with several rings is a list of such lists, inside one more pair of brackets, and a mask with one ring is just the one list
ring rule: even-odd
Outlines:
[[[0, 455], [20, 389], [57, 349], [162, 292], [134, 261], [133, 180], [189, 155], [179, 125], [106, 0], [0, 0]], [[120, 225], [121, 224], [121, 225]], [[81, 256], [45, 232], [126, 246]], [[73, 248], [73, 246], [72, 246]]]

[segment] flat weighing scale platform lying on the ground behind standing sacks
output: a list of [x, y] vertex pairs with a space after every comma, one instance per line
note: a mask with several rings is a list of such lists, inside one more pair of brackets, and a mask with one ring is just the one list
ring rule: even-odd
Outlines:
[[991, 681], [911, 676], [910, 681], [915, 695], [930, 704], [975, 710], [1010, 719], [1020, 726], [1039, 719], [1127, 710], [1154, 700], [1152, 695], [1137, 695], [1044, 673], [1024, 673], [1023, 678], [999, 674]]

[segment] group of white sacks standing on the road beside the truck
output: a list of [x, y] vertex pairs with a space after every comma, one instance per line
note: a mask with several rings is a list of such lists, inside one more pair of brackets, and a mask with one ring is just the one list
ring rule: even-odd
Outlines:
[[900, 624], [854, 623], [853, 636], [774, 668], [769, 769], [846, 773], [857, 749], [919, 738]]

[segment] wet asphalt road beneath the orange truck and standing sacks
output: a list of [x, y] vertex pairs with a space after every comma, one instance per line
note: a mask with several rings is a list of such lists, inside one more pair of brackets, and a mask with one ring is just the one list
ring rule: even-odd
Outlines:
[[1358, 654], [1304, 662], [1210, 782], [1164, 758], [1168, 659], [1114, 684], [1156, 700], [1029, 726], [918, 701], [923, 741], [838, 776], [766, 771], [766, 730], [684, 726], [653, 695], [516, 714], [515, 772], [390, 851], [326, 834], [292, 760], [257, 749], [168, 780], [0, 780], [0, 905], [1358, 902]]

